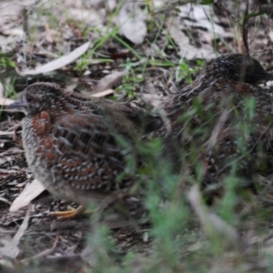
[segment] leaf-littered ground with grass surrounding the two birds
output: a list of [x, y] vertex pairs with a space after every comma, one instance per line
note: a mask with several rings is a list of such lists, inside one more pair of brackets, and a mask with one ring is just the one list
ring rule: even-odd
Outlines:
[[[198, 204], [195, 187], [187, 188], [179, 201], [158, 201], [155, 193], [144, 201], [147, 220], [125, 227], [121, 222], [101, 224], [90, 216], [66, 221], [49, 217], [51, 211], [77, 205], [46, 191], [33, 194], [31, 205], [10, 211], [34, 177], [20, 136], [24, 115], [5, 111], [5, 98], [15, 99], [36, 81], [50, 81], [152, 111], [211, 59], [246, 50], [246, 4], [187, 2], [0, 3], [1, 272], [270, 272], [270, 172], [267, 179], [257, 175], [258, 194], [227, 198], [214, 210]], [[251, 56], [270, 71], [273, 21], [269, 5], [258, 13], [259, 3], [249, 1], [248, 45]], [[238, 198], [238, 207], [230, 204]], [[197, 211], [191, 208], [195, 205]]]

